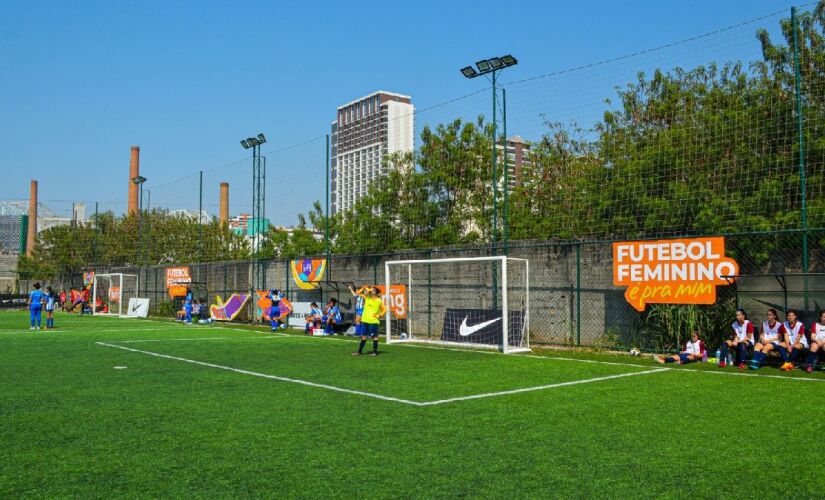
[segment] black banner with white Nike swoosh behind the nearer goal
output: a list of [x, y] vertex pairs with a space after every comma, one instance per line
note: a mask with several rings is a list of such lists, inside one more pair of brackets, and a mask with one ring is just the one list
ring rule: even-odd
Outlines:
[[[502, 314], [495, 309], [447, 309], [441, 340], [471, 344], [501, 345]], [[524, 311], [508, 313], [509, 345], [521, 345]]]

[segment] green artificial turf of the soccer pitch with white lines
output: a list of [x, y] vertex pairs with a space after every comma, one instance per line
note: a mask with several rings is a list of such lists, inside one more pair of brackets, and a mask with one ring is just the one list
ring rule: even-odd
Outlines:
[[825, 495], [821, 373], [27, 321], [0, 313], [3, 498]]

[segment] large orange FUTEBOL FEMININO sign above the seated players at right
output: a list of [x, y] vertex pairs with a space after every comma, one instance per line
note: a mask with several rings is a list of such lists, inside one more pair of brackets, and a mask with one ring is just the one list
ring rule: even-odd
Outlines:
[[613, 284], [637, 311], [647, 304], [713, 304], [722, 276], [739, 274], [725, 257], [725, 238], [685, 238], [613, 243]]

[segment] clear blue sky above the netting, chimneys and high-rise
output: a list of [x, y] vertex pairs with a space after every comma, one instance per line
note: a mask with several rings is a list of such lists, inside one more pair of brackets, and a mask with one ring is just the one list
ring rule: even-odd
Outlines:
[[[513, 81], [681, 40], [790, 5], [787, 0], [5, 2], [0, 199], [27, 197], [29, 179], [37, 178], [41, 200], [58, 210], [67, 205], [57, 200], [125, 200], [132, 144], [141, 146], [141, 173], [151, 188], [242, 160], [246, 152], [238, 140], [259, 131], [270, 141], [265, 151], [322, 136], [336, 106], [374, 90], [410, 94], [418, 108], [426, 108], [484, 89], [488, 84], [482, 79], [468, 81], [458, 73], [480, 58], [516, 55], [520, 64], [503, 78]], [[757, 47], [750, 35], [747, 43]], [[456, 109], [471, 112], [474, 103], [489, 102], [484, 99]], [[323, 162], [322, 141], [308, 148]], [[289, 169], [301, 165], [282, 165], [284, 178], [297, 175]], [[239, 179], [249, 170], [243, 162], [232, 168]], [[317, 195], [310, 196], [322, 198], [323, 179], [314, 188]], [[158, 187], [158, 199], [161, 192]], [[268, 196], [278, 199], [277, 192]], [[233, 212], [243, 209], [242, 203], [244, 196], [234, 197]]]

